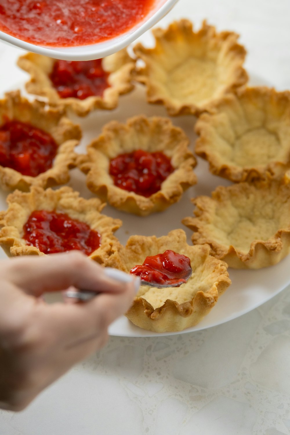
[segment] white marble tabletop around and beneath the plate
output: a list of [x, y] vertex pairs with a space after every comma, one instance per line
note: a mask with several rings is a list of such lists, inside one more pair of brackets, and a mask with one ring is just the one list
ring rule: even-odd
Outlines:
[[[180, 0], [163, 19], [207, 18], [235, 30], [246, 67], [290, 88], [290, 1]], [[142, 39], [142, 38], [141, 38]], [[0, 45], [0, 84], [25, 74], [21, 50]], [[290, 433], [290, 294], [233, 321], [168, 337], [110, 337], [103, 350], [19, 414], [1, 435], [281, 435]]]

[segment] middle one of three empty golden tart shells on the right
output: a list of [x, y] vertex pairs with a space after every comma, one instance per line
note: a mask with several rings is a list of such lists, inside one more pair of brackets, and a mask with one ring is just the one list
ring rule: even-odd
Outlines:
[[197, 120], [195, 151], [234, 182], [281, 176], [290, 167], [290, 92], [238, 90]]

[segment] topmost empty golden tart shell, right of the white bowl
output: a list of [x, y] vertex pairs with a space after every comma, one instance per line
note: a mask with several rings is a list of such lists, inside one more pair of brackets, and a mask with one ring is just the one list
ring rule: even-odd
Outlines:
[[147, 86], [147, 100], [164, 104], [171, 116], [199, 115], [247, 83], [246, 50], [236, 33], [217, 33], [206, 21], [194, 32], [190, 21], [180, 20], [153, 35], [154, 48], [134, 47], [145, 63], [136, 79]]

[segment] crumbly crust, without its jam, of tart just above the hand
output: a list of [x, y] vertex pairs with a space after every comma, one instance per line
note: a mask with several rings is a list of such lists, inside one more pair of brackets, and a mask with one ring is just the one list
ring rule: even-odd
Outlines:
[[98, 231], [101, 245], [89, 256], [98, 263], [105, 265], [111, 255], [112, 258], [117, 255], [120, 243], [113, 232], [120, 228], [122, 221], [101, 214], [106, 204], [97, 198], [86, 200], [70, 187], [46, 191], [41, 187], [31, 187], [29, 193], [15, 191], [8, 195], [7, 203], [8, 209], [0, 212], [0, 245], [8, 256], [46, 255], [35, 246], [27, 245], [22, 238], [23, 225], [34, 210], [66, 213]]

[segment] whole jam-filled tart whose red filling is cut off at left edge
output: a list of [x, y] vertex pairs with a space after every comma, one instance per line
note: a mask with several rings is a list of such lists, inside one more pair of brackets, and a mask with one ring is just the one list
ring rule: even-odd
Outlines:
[[63, 110], [30, 103], [18, 91], [0, 100], [0, 185], [28, 191], [69, 181], [81, 137]]

